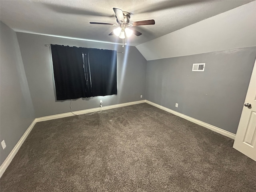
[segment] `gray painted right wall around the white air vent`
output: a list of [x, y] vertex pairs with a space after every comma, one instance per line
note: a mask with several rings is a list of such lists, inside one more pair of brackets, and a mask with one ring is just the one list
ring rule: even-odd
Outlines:
[[251, 47], [148, 61], [146, 99], [236, 134], [255, 58]]

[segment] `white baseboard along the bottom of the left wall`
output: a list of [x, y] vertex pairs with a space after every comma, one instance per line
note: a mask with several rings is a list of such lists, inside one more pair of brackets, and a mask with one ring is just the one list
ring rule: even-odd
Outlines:
[[34, 125], [36, 124], [36, 120], [34, 120], [31, 125], [28, 127], [28, 129], [26, 130], [26, 132], [22, 135], [22, 137], [20, 138], [20, 140], [18, 141], [18, 143], [14, 146], [14, 148], [12, 149], [12, 151], [10, 152], [10, 154], [7, 156], [7, 158], [4, 160], [4, 162], [2, 163], [2, 165], [0, 166], [0, 178], [2, 177], [2, 175], [4, 174], [6, 168], [10, 165], [10, 163], [12, 162], [12, 159], [14, 158], [14, 156], [16, 155], [16, 153], [18, 152], [18, 150], [20, 149], [20, 147], [22, 146], [23, 142], [25, 141], [25, 139], [27, 138], [28, 134], [30, 133], [30, 131], [32, 130], [32, 128], [34, 127]]

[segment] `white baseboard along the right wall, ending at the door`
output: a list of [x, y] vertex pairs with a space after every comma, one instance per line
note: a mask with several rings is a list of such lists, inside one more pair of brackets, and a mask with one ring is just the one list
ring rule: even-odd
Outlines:
[[162, 110], [165, 110], [165, 111], [167, 111], [167, 112], [169, 112], [169, 113], [172, 113], [172, 114], [174, 114], [174, 115], [176, 115], [176, 116], [179, 116], [179, 117], [181, 117], [181, 118], [184, 118], [184, 119], [186, 119], [186, 120], [188, 120], [188, 121], [191, 121], [191, 122], [193, 122], [193, 123], [195, 123], [195, 124], [198, 124], [198, 125], [200, 125], [200, 126], [203, 126], [203, 127], [205, 127], [205, 128], [208, 128], [208, 129], [210, 129], [210, 130], [212, 130], [212, 131], [215, 131], [215, 132], [217, 132], [217, 133], [219, 133], [219, 134], [222, 134], [222, 135], [224, 135], [224, 136], [227, 136], [227, 137], [229, 137], [229, 138], [231, 138], [231, 139], [235, 139], [235, 137], [236, 137], [236, 134], [234, 134], [234, 133], [230, 133], [230, 132], [228, 132], [228, 131], [226, 131], [226, 130], [223, 130], [223, 129], [218, 128], [218, 127], [216, 127], [216, 126], [213, 126], [213, 125], [210, 125], [210, 124], [208, 124], [208, 123], [202, 122], [202, 121], [200, 121], [200, 120], [194, 119], [194, 118], [192, 118], [192, 117], [186, 116], [186, 115], [184, 115], [184, 114], [181, 114], [181, 113], [179, 113], [179, 112], [176, 112], [176, 111], [171, 110], [171, 109], [169, 109], [169, 108], [166, 108], [166, 107], [164, 107], [164, 106], [158, 105], [158, 104], [153, 103], [153, 102], [151, 102], [151, 101], [146, 100], [146, 103], [148, 103], [148, 104], [150, 104], [150, 105], [152, 105], [152, 106], [155, 106], [155, 107], [157, 107], [157, 108], [160, 108], [160, 109], [162, 109]]

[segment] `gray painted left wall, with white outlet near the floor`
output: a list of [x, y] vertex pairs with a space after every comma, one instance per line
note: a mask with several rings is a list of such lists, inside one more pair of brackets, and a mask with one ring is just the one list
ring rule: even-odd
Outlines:
[[28, 89], [16, 33], [0, 23], [0, 164], [33, 122], [34, 108]]

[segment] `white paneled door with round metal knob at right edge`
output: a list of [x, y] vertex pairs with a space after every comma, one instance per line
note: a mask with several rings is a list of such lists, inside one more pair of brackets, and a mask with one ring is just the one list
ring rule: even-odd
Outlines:
[[256, 61], [233, 148], [256, 161]]

